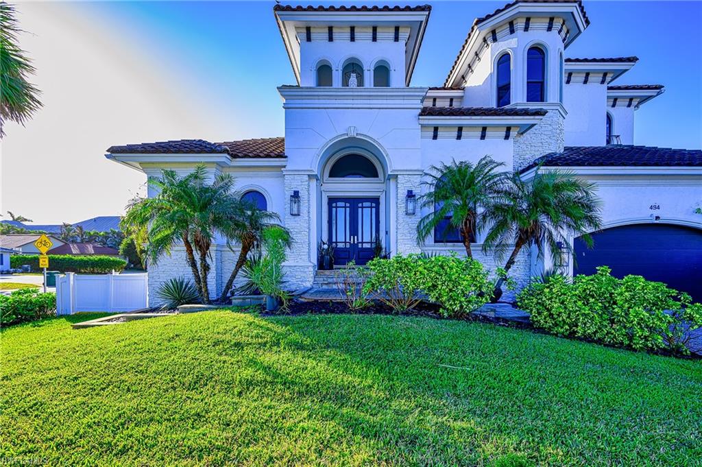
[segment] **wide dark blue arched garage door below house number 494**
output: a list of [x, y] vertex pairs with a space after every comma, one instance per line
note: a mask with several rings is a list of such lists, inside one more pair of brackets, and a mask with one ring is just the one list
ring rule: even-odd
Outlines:
[[665, 224], [623, 225], [592, 235], [588, 249], [575, 240], [575, 274], [607, 265], [616, 277], [635, 274], [665, 282], [702, 301], [702, 230]]

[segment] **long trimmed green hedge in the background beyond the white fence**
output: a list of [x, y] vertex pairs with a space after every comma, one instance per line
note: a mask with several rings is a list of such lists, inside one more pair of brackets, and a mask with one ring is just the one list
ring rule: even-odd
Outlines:
[[[29, 265], [32, 271], [39, 271], [39, 255], [11, 255], [11, 268]], [[105, 255], [75, 256], [49, 255], [50, 270], [60, 272], [84, 272], [88, 274], [108, 274], [115, 270], [120, 272], [126, 268], [127, 262], [121, 258]]]

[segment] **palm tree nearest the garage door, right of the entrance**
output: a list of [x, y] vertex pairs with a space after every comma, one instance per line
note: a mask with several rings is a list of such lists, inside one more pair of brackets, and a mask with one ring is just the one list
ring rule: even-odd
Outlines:
[[[505, 270], [509, 271], [523, 246], [536, 246], [541, 258], [547, 249], [558, 257], [562, 249], [570, 254], [567, 235], [582, 235], [591, 246], [588, 232], [600, 228], [601, 205], [595, 185], [576, 178], [574, 173], [536, 173], [531, 180], [523, 180], [515, 173], [498, 202], [484, 213], [490, 229], [483, 251], [496, 248], [496, 255], [501, 258], [511, 247], [512, 253], [505, 263]], [[503, 282], [500, 278], [496, 283], [494, 301], [502, 296]]]

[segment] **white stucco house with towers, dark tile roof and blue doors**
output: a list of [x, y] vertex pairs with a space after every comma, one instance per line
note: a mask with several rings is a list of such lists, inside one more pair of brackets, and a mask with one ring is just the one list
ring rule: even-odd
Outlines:
[[[412, 86], [430, 11], [276, 5], [297, 80], [277, 88], [284, 136], [121, 145], [107, 157], [149, 177], [196, 164], [211, 176], [232, 173], [293, 233], [291, 288], [314, 282], [322, 240], [336, 245], [337, 264], [368, 261], [376, 239], [393, 254], [461, 254], [458, 235], [418, 242], [423, 213], [406, 209], [432, 164], [488, 154], [526, 177], [537, 163], [568, 169], [597, 183], [604, 202], [604, 230], [591, 250], [573, 239], [578, 261], [569, 272], [607, 264], [701, 299], [702, 151], [633, 145], [635, 114], [663, 93], [618, 84], [637, 58], [570, 58], [567, 48], [590, 23], [581, 1], [517, 0], [472, 23], [442, 86]], [[225, 244], [213, 251], [211, 290], [220, 291], [234, 255]], [[502, 265], [474, 251], [488, 268]], [[524, 285], [545, 267], [524, 251], [512, 275]], [[150, 266], [150, 288], [184, 270], [176, 251]]]

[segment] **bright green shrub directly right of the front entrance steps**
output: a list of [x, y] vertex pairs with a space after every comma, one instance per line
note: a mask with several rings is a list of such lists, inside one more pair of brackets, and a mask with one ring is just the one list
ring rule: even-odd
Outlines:
[[369, 278], [362, 289], [363, 294], [376, 296], [395, 312], [412, 310], [421, 302], [420, 285], [426, 261], [418, 254], [373, 258], [366, 264]]

